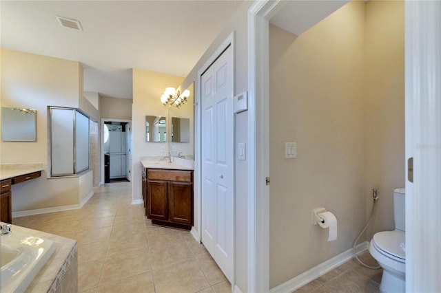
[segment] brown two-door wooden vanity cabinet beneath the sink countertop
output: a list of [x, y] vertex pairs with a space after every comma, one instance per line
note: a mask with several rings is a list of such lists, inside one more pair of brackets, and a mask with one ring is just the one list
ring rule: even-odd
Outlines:
[[153, 224], [193, 226], [193, 171], [147, 169], [147, 217]]

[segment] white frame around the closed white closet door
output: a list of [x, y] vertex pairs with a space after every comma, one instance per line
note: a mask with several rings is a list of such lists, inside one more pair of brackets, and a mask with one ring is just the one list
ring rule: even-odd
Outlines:
[[[201, 167], [202, 167], [202, 126], [201, 126], [201, 76], [203, 73], [216, 61], [216, 59], [227, 49], [229, 45], [232, 46], [233, 49], [233, 93], [235, 91], [235, 70], [234, 70], [234, 63], [235, 63], [235, 46], [234, 46], [234, 31], [227, 36], [227, 38], [218, 46], [218, 48], [214, 51], [212, 56], [210, 56], [207, 61], [204, 63], [204, 65], [201, 66], [201, 68], [198, 70], [198, 81], [197, 81], [197, 87], [194, 87], [194, 101], [195, 101], [195, 109], [194, 109], [194, 226], [192, 227], [192, 230], [190, 232], [192, 233], [193, 237], [198, 241], [201, 242], [202, 239], [202, 173], [201, 173]], [[234, 123], [234, 122], [233, 122]], [[233, 133], [235, 135], [235, 133]], [[233, 140], [234, 141], [234, 140]], [[233, 142], [234, 143], [234, 142]], [[234, 152], [235, 153], [235, 152]], [[233, 162], [234, 164], [234, 162]], [[235, 164], [234, 164], [235, 165]], [[236, 178], [233, 180], [233, 192], [236, 191]], [[236, 210], [236, 203], [234, 202], [234, 211]], [[235, 212], [234, 212], [235, 213]], [[233, 215], [233, 241], [235, 241], [235, 233], [236, 233], [236, 217]], [[233, 249], [233, 282], [232, 286], [234, 286], [234, 283], [236, 282], [236, 248], [235, 248], [235, 242], [234, 243], [234, 249]]]

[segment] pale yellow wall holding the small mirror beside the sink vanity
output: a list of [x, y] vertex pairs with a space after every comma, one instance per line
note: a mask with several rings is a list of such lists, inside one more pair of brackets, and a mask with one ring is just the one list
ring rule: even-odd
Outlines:
[[[161, 103], [165, 87], [178, 87], [183, 81], [181, 76], [133, 69], [133, 153], [132, 153], [132, 188], [133, 200], [141, 200], [141, 158], [145, 156], [163, 157], [169, 152], [167, 142], [145, 142], [145, 116], [165, 116], [168, 120], [168, 108]], [[167, 124], [169, 122], [167, 121]], [[170, 131], [169, 131], [170, 132]], [[161, 146], [165, 151], [161, 151]]]

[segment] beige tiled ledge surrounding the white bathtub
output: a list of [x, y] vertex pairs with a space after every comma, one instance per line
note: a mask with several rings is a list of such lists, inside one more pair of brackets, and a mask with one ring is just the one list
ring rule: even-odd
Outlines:
[[50, 239], [54, 241], [54, 253], [50, 259], [48, 259], [48, 262], [43, 265], [43, 268], [41, 268], [25, 292], [55, 292], [57, 287], [60, 285], [59, 283], [63, 278], [63, 274], [65, 274], [71, 263], [76, 265], [76, 241], [74, 239], [32, 230], [21, 226], [12, 225], [11, 230], [12, 233], [17, 231], [33, 237]]

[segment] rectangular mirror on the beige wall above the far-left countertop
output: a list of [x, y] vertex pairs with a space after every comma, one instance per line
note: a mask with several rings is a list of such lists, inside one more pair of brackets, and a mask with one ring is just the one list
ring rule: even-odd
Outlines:
[[1, 140], [37, 141], [37, 110], [1, 107]]

